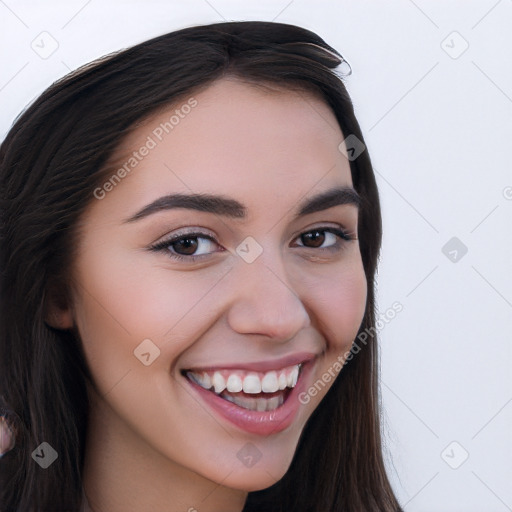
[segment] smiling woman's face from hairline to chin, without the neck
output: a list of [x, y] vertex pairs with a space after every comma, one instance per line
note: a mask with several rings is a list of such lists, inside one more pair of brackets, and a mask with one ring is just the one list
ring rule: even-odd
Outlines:
[[244, 491], [284, 475], [365, 309], [344, 138], [310, 95], [223, 79], [117, 149], [70, 313], [98, 449]]

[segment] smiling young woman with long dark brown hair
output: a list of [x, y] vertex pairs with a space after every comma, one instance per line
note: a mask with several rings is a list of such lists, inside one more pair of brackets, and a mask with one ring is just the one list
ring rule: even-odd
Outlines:
[[342, 61], [291, 25], [192, 27], [17, 119], [0, 149], [0, 510], [400, 510], [379, 199]]

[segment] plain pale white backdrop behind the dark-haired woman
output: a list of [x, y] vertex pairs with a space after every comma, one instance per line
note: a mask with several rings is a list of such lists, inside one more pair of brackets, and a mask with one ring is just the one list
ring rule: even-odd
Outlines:
[[380, 342], [405, 510], [512, 510], [512, 1], [0, 1], [1, 138], [68, 71], [222, 19], [302, 25], [352, 65], [382, 197], [379, 311], [403, 305]]

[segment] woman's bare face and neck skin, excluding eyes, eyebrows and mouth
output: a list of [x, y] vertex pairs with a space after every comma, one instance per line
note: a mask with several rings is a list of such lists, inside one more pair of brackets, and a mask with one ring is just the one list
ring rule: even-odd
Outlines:
[[[248, 492], [283, 477], [332, 381], [300, 407], [290, 427], [263, 437], [196, 400], [180, 370], [308, 351], [316, 354], [309, 386], [350, 349], [364, 314], [358, 240], [325, 233], [322, 247], [339, 243], [329, 251], [304, 246], [300, 237], [319, 227], [355, 236], [357, 207], [293, 219], [305, 198], [352, 186], [338, 149], [345, 137], [330, 108], [305, 93], [226, 78], [194, 97], [197, 106], [179, 125], [91, 203], [80, 225], [72, 303], [52, 313], [54, 325], [78, 328], [97, 388], [89, 390], [83, 479], [96, 511], [241, 511]], [[176, 108], [139, 125], [113, 165], [122, 165]], [[174, 209], [124, 222], [177, 192], [231, 197], [248, 217]], [[198, 254], [206, 254], [196, 263], [172, 260], [172, 249], [187, 254], [176, 244], [148, 250], [185, 227], [218, 244], [196, 239]], [[263, 248], [251, 264], [235, 251], [247, 236]], [[148, 338], [160, 355], [145, 366], [134, 350]], [[262, 454], [252, 467], [237, 457], [248, 442]]]

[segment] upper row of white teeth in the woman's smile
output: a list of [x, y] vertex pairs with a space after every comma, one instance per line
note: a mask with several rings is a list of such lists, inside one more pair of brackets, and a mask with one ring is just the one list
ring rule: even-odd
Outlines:
[[246, 372], [244, 370], [216, 370], [214, 372], [188, 371], [187, 377], [205, 389], [212, 386], [215, 393], [220, 394], [224, 390], [230, 393], [274, 393], [286, 387], [294, 388], [299, 378], [301, 364], [289, 366], [282, 370], [271, 370], [266, 373]]

